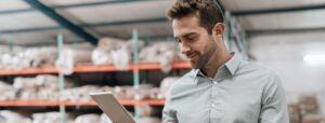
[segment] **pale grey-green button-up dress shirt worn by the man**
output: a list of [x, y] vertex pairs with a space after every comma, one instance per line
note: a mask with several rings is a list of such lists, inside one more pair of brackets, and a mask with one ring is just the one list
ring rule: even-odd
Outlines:
[[172, 85], [164, 123], [289, 123], [285, 92], [275, 71], [237, 54], [213, 79], [192, 70]]

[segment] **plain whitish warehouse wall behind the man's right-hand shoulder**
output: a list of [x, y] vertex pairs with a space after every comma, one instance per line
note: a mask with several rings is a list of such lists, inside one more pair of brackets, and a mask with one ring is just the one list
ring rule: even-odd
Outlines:
[[[260, 35], [248, 40], [257, 62], [278, 71], [288, 101], [296, 101], [302, 93], [325, 97], [325, 63], [303, 60], [306, 54], [325, 53], [325, 32]], [[324, 112], [325, 101], [318, 100]]]

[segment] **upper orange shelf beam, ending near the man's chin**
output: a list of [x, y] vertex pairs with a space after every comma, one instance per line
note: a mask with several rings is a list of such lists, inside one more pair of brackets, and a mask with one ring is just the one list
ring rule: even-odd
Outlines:
[[[161, 67], [158, 63], [142, 63], [139, 65], [130, 65], [128, 70], [133, 70], [138, 67], [139, 70], [159, 70]], [[172, 64], [173, 69], [190, 69], [191, 65], [187, 62], [177, 62]], [[77, 65], [74, 68], [74, 72], [113, 72], [121, 71], [112, 65], [94, 66], [94, 65]], [[55, 67], [42, 67], [42, 68], [26, 68], [23, 70], [0, 70], [0, 76], [25, 76], [25, 74], [47, 74], [58, 73]]]

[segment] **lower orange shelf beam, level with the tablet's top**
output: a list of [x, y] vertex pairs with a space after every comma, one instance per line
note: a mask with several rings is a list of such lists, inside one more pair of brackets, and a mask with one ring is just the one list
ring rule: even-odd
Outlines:
[[[132, 99], [119, 100], [123, 106], [135, 106]], [[141, 100], [139, 105], [164, 106], [165, 100]], [[5, 100], [0, 107], [58, 107], [58, 106], [96, 106], [94, 101], [57, 101], [57, 100]]]

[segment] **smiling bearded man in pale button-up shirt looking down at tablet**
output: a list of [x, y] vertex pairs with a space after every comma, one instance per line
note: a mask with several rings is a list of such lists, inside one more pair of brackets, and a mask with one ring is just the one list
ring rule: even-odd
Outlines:
[[168, 12], [193, 70], [171, 87], [164, 123], [289, 123], [278, 76], [226, 51], [220, 10], [213, 0], [177, 0]]

